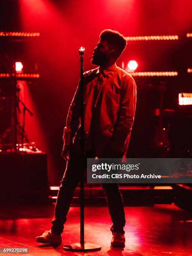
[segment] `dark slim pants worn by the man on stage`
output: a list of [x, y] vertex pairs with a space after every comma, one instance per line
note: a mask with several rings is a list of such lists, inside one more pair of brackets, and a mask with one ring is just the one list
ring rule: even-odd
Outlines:
[[[63, 232], [64, 223], [67, 221], [66, 216], [73, 199], [74, 190], [81, 179], [80, 155], [74, 154], [73, 151], [70, 152], [70, 159], [67, 161], [66, 170], [64, 172], [63, 179], [61, 180], [61, 186], [59, 187], [55, 205], [54, 218], [52, 220], [51, 230], [58, 235]], [[117, 158], [118, 157], [121, 158], [122, 153], [117, 156]], [[84, 156], [83, 172], [87, 169], [87, 158], [95, 158], [94, 151], [89, 151], [86, 156]], [[112, 233], [117, 231], [124, 234], [125, 231], [123, 230], [123, 227], [125, 226], [125, 212], [119, 185], [115, 183], [102, 183], [101, 186], [107, 197], [109, 213], [113, 222], [110, 230]]]

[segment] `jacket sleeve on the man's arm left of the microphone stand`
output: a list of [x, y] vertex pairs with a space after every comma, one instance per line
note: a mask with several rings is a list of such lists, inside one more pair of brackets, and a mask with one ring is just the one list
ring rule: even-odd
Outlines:
[[73, 100], [70, 104], [66, 126], [64, 127], [63, 140], [64, 145], [69, 146], [73, 142], [73, 138], [80, 124], [80, 82], [77, 86]]

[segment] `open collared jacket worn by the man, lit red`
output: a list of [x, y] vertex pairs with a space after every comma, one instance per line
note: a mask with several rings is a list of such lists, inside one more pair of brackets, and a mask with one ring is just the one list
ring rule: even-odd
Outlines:
[[[127, 72], [114, 64], [103, 72], [95, 105], [92, 106], [93, 92], [97, 85], [100, 68], [84, 72], [84, 139], [85, 148], [91, 144], [90, 123], [92, 107], [95, 109], [94, 146], [96, 156], [102, 157], [106, 148], [124, 152], [126, 157], [128, 143], [136, 109], [136, 83]], [[64, 144], [79, 145], [80, 97], [79, 85], [69, 107]]]

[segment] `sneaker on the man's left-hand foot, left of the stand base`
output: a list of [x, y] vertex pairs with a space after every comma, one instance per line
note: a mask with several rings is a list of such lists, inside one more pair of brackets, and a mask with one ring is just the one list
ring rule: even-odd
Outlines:
[[46, 230], [41, 236], [36, 237], [37, 243], [55, 243], [55, 244], [61, 244], [62, 243], [62, 237], [61, 235], [56, 235], [53, 233], [52, 230]]

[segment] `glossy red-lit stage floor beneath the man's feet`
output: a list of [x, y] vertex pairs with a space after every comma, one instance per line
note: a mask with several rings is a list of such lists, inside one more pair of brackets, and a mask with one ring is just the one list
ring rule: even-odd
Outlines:
[[[192, 255], [192, 215], [172, 205], [125, 207], [125, 248], [110, 248], [108, 207], [85, 207], [85, 241], [101, 251], [79, 253], [62, 246], [79, 242], [79, 207], [71, 207], [63, 243], [57, 248], [36, 243], [35, 237], [50, 229], [54, 204], [1, 207], [0, 247], [28, 247], [26, 255]], [[9, 255], [16, 255], [14, 253]], [[24, 255], [24, 254], [19, 254]]]

